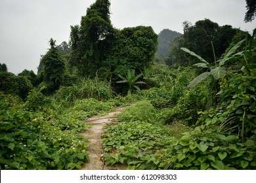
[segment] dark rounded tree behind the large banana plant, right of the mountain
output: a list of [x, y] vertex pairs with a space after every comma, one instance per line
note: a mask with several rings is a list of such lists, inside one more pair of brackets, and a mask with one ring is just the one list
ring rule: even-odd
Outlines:
[[211, 42], [215, 45], [215, 58], [220, 59], [233, 37], [239, 32], [239, 29], [234, 29], [230, 25], [219, 26], [209, 19], [200, 20], [195, 25], [187, 26], [183, 37], [175, 39], [172, 44], [177, 46], [173, 48], [166, 62], [173, 66], [188, 66], [196, 63], [197, 60], [192, 56], [184, 56], [184, 52], [180, 50], [184, 47], [196, 52], [209, 63], [214, 63]]

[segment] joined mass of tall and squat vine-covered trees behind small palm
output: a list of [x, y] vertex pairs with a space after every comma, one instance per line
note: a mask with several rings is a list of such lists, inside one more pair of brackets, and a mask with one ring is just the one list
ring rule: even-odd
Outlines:
[[80, 76], [118, 78], [128, 69], [143, 69], [153, 60], [157, 35], [152, 27], [114, 29], [110, 21], [110, 1], [97, 0], [71, 26], [72, 61]]

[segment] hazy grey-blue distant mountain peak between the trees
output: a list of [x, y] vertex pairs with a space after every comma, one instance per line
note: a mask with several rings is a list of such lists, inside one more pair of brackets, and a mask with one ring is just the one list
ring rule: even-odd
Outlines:
[[158, 51], [156, 52], [158, 58], [167, 58], [171, 53], [171, 41], [181, 35], [176, 31], [163, 29], [158, 35]]

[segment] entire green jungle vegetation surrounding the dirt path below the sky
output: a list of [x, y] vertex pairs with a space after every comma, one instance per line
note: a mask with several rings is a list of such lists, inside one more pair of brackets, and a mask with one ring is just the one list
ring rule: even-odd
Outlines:
[[37, 75], [1, 63], [0, 169], [81, 169], [90, 161], [86, 120], [131, 104], [104, 128], [106, 165], [256, 169], [256, 29], [183, 25], [156, 63], [169, 31], [116, 29], [110, 1], [96, 0], [69, 43], [49, 38]]

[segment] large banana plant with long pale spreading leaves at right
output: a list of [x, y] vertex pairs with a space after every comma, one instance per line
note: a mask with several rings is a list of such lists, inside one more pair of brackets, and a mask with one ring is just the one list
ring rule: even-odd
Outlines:
[[[237, 48], [239, 48], [241, 46], [241, 44], [245, 41], [245, 39], [243, 39], [242, 41], [238, 42], [235, 46], [233, 46], [224, 56], [223, 59], [219, 59], [218, 61], [216, 61], [215, 59], [215, 65], [211, 65], [209, 64], [205, 59], [203, 59], [202, 57], [198, 56], [198, 54], [195, 54], [194, 52], [188, 50], [187, 48], [181, 48], [181, 50], [183, 50], [184, 52], [187, 52], [188, 54], [195, 56], [196, 58], [200, 59], [200, 63], [196, 63], [194, 64], [194, 66], [197, 67], [203, 67], [203, 68], [207, 68], [208, 71], [206, 71], [205, 73], [202, 73], [201, 75], [197, 76], [196, 78], [194, 78], [190, 84], [188, 84], [188, 88], [193, 88], [194, 86], [196, 86], [198, 83], [202, 82], [203, 80], [205, 80], [205, 78], [207, 78], [208, 76], [213, 76], [213, 78], [215, 78], [215, 80], [219, 80], [219, 78], [223, 77], [226, 74], [226, 68], [223, 67], [224, 63], [230, 59], [233, 59], [234, 56], [231, 56], [232, 54], [234, 54], [234, 52], [236, 51]], [[213, 44], [212, 44], [213, 46]], [[214, 48], [213, 48], [213, 54], [215, 57], [215, 52], [214, 52]]]

